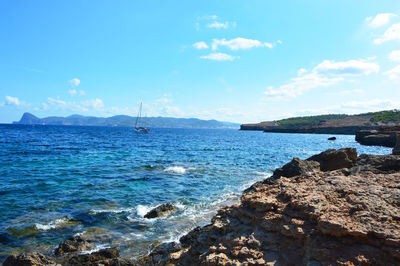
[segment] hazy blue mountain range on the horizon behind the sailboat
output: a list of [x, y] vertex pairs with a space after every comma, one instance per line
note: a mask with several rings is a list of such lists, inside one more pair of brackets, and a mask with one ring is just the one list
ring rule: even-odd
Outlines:
[[[131, 127], [135, 125], [136, 117], [116, 115], [111, 117], [95, 117], [70, 115], [67, 117], [50, 116], [39, 118], [31, 113], [24, 113], [21, 119], [13, 124], [18, 125], [63, 125], [63, 126], [113, 126]], [[146, 127], [159, 128], [236, 128], [240, 124], [221, 122], [217, 120], [201, 120], [197, 118], [173, 117], [142, 117], [141, 123]]]

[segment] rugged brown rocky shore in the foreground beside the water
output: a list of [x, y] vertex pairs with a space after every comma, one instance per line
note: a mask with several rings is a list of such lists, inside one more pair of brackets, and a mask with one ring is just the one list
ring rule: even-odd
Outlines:
[[400, 156], [328, 150], [294, 158], [211, 224], [138, 260], [117, 247], [84, 254], [91, 243], [75, 237], [57, 255], [12, 255], [4, 265], [399, 265], [399, 180]]

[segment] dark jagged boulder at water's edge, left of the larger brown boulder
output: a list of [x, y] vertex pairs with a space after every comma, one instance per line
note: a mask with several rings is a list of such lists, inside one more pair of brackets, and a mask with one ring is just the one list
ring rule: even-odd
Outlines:
[[315, 161], [303, 161], [295, 157], [293, 160], [281, 168], [274, 171], [272, 178], [276, 179], [281, 176], [293, 177], [298, 175], [303, 175], [307, 173], [312, 173], [319, 170], [319, 163]]

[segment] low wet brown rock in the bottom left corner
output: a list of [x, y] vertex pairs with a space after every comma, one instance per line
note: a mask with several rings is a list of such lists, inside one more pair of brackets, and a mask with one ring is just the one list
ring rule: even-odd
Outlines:
[[27, 253], [19, 255], [11, 255], [3, 262], [3, 266], [42, 266], [56, 265], [49, 257], [41, 253]]

